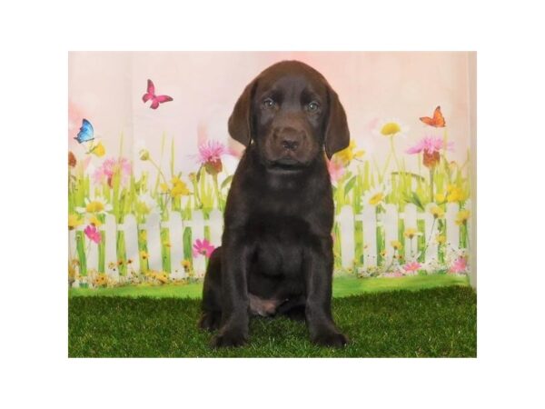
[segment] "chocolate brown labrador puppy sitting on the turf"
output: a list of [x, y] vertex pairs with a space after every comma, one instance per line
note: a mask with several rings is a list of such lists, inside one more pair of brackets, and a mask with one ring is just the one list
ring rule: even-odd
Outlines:
[[312, 342], [346, 344], [332, 320], [325, 159], [350, 142], [339, 97], [311, 66], [283, 61], [246, 86], [229, 133], [246, 150], [227, 196], [222, 246], [204, 277], [201, 327], [219, 328], [215, 346], [242, 345], [250, 314], [286, 314], [306, 319]]

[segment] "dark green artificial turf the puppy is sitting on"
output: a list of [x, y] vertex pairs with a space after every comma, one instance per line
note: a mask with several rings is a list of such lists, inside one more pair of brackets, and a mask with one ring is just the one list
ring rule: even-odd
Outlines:
[[71, 357], [476, 356], [477, 299], [468, 286], [333, 298], [333, 315], [351, 343], [310, 343], [306, 327], [286, 318], [254, 318], [250, 343], [213, 349], [197, 328], [200, 301], [189, 298], [71, 296]]

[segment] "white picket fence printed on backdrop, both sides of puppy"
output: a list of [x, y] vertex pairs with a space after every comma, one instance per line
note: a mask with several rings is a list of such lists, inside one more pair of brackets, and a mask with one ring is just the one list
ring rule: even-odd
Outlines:
[[[354, 265], [356, 245], [358, 241], [355, 239], [356, 223], [362, 223], [362, 254], [363, 254], [363, 266], [376, 266], [377, 265], [377, 229], [383, 229], [385, 238], [385, 244], [387, 248], [390, 248], [391, 241], [404, 240], [404, 256], [406, 260], [414, 259], [421, 249], [418, 248], [418, 236], [414, 236], [412, 239], [400, 236], [399, 223], [402, 220], [404, 228], [417, 227], [418, 220], [424, 221], [424, 241], [430, 242], [426, 246], [424, 254], [425, 261], [431, 262], [438, 258], [438, 243], [436, 236], [438, 234], [438, 223], [433, 222], [433, 215], [431, 214], [431, 207], [435, 204], [426, 206], [425, 212], [418, 212], [417, 207], [412, 204], [405, 205], [403, 213], [398, 213], [397, 206], [385, 205], [385, 213], [377, 213], [376, 207], [366, 206], [362, 214], [354, 214], [352, 206], [345, 205], [342, 207], [341, 212], [336, 217], [336, 224], [339, 226], [341, 232], [341, 264], [343, 268], [349, 268]], [[467, 204], [469, 206], [469, 202]], [[451, 203], [446, 205], [446, 212], [444, 215], [446, 223], [446, 244], [448, 253], [456, 254], [460, 250], [460, 226], [456, 224], [456, 216], [459, 212], [459, 205]], [[193, 218], [191, 220], [183, 220], [182, 216], [178, 212], [171, 212], [168, 221], [161, 221], [159, 214], [150, 214], [145, 224], [138, 225], [133, 214], [127, 214], [124, 217], [123, 224], [116, 224], [114, 216], [107, 214], [105, 216], [105, 222], [99, 227], [100, 231], [104, 232], [104, 266], [110, 263], [117, 263], [120, 257], [116, 251], [116, 238], [117, 232], [124, 232], [125, 242], [125, 254], [127, 259], [133, 261], [132, 268], [134, 271], [140, 271], [140, 257], [138, 248], [138, 234], [139, 231], [144, 230], [146, 232], [147, 241], [147, 254], [148, 265], [151, 270], [161, 271], [163, 270], [163, 256], [162, 256], [162, 239], [161, 229], [165, 228], [169, 231], [169, 243], [170, 243], [170, 259], [171, 259], [171, 274], [182, 278], [184, 276], [182, 262], [185, 258], [191, 258], [191, 254], [183, 254], [183, 231], [185, 228], [190, 228], [192, 231], [192, 242], [196, 239], [204, 239], [204, 227], [209, 228], [209, 241], [213, 246], [221, 244], [222, 232], [223, 232], [223, 214], [220, 210], [213, 210], [210, 212], [208, 219], [204, 218], [203, 211], [193, 211]], [[433, 231], [431, 230], [433, 229]], [[76, 229], [69, 231], [69, 251], [71, 257], [76, 256], [76, 231], [84, 230], [84, 225], [78, 226]], [[84, 234], [82, 234], [84, 237]], [[360, 241], [361, 242], [361, 241]], [[86, 237], [84, 237], [84, 248], [88, 248], [86, 253], [86, 266], [87, 270], [98, 270], [99, 267], [99, 250], [98, 244], [89, 243]], [[393, 251], [387, 251], [385, 255], [385, 263], [390, 264], [393, 256]], [[193, 258], [193, 270], [197, 275], [202, 275], [205, 269], [206, 260], [203, 255], [199, 255]], [[105, 268], [106, 272], [110, 275], [117, 275], [117, 269], [115, 271], [109, 271]], [[113, 276], [113, 278], [118, 278]]]

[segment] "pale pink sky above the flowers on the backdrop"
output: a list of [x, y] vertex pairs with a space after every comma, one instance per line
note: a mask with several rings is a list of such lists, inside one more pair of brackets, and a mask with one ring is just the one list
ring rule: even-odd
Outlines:
[[[94, 125], [106, 147], [106, 156], [118, 155], [124, 134], [124, 156], [134, 159], [135, 170], [152, 171], [138, 160], [145, 146], [159, 158], [161, 137], [167, 136], [163, 166], [170, 158], [174, 138], [175, 168], [196, 170], [197, 145], [205, 139], [222, 141], [241, 150], [227, 133], [227, 119], [243, 88], [264, 68], [285, 59], [312, 65], [324, 75], [341, 98], [352, 139], [367, 158], [379, 164], [388, 153], [388, 139], [373, 134], [384, 119], [396, 119], [409, 128], [396, 140], [398, 155], [425, 135], [443, 135], [421, 123], [441, 105], [449, 140], [450, 158], [463, 163], [470, 146], [475, 107], [474, 55], [466, 52], [71, 52], [69, 55], [69, 149], [84, 150], [74, 141], [81, 121]], [[158, 95], [173, 102], [157, 110], [144, 105], [142, 95], [151, 78]], [[404, 155], [409, 169], [418, 159]], [[94, 158], [98, 164], [103, 158]], [[235, 161], [228, 164], [230, 173]]]

